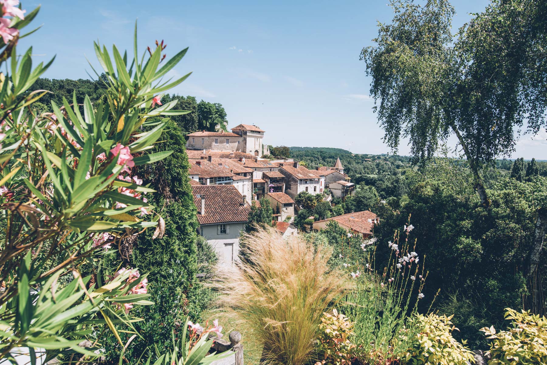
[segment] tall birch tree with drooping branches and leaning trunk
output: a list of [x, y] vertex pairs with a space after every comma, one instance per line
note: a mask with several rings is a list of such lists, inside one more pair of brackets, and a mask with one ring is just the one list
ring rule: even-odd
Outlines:
[[411, 154], [424, 160], [455, 135], [488, 207], [482, 167], [514, 151], [515, 130], [525, 122], [534, 134], [544, 125], [545, 4], [493, 1], [456, 37], [446, 0], [391, 5], [393, 21], [379, 24], [376, 46], [361, 54], [385, 141], [397, 150], [409, 137]]

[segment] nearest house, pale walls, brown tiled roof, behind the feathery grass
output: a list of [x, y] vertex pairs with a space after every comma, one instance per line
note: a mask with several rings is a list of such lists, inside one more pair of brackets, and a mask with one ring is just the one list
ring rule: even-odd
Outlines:
[[219, 255], [220, 264], [231, 265], [237, 260], [241, 232], [249, 219], [251, 206], [247, 197], [231, 185], [201, 185], [192, 183], [197, 207], [197, 232]]

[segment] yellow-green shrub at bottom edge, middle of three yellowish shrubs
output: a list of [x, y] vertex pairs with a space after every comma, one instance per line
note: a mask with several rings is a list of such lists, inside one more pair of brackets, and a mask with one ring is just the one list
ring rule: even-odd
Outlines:
[[474, 363], [473, 352], [452, 337], [458, 330], [450, 321], [453, 316], [416, 314], [409, 318], [411, 326], [417, 326], [418, 333], [401, 363], [412, 365], [464, 365]]

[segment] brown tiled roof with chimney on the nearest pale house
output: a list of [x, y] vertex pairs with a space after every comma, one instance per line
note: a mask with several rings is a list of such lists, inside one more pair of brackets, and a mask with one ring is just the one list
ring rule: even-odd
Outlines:
[[[247, 222], [251, 207], [232, 185], [192, 186], [197, 220], [200, 224]], [[205, 215], [201, 215], [201, 195], [205, 194]]]

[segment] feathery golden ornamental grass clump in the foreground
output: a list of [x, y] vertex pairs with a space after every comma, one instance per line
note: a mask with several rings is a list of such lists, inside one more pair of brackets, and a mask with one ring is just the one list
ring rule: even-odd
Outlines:
[[246, 259], [225, 271], [220, 303], [252, 328], [262, 362], [300, 365], [316, 360], [323, 312], [346, 289], [345, 275], [330, 270], [331, 250], [300, 236], [283, 239], [271, 228], [247, 234]]

